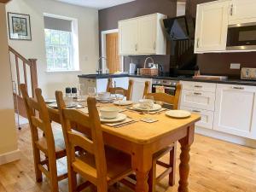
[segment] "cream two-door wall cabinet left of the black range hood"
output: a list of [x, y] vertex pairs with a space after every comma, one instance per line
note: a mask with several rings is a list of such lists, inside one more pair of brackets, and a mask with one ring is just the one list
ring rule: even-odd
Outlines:
[[119, 55], [166, 55], [163, 19], [154, 14], [119, 21]]

